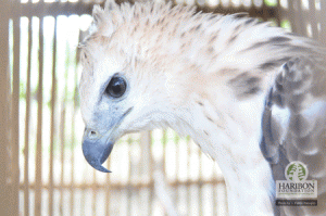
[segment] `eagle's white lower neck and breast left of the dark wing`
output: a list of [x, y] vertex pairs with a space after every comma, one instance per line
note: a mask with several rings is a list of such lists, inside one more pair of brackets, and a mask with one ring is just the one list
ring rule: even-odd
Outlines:
[[[230, 215], [274, 215], [272, 169], [260, 150], [264, 96], [234, 101], [226, 110], [200, 97], [181, 115], [175, 130], [188, 134], [221, 167]], [[218, 106], [218, 105], [217, 105]], [[222, 107], [220, 107], [222, 109]]]

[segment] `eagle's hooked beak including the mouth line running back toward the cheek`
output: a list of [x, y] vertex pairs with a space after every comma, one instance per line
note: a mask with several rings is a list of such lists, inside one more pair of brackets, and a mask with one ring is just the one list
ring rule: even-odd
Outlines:
[[[102, 166], [102, 164], [109, 157], [114, 142], [115, 136], [112, 136], [115, 129], [121, 125], [122, 120], [126, 117], [127, 114], [131, 112], [133, 107], [128, 109], [117, 120], [117, 123], [111, 128], [106, 134], [100, 136], [97, 131], [91, 129], [86, 129], [84, 132], [83, 139], [83, 153], [90, 166], [95, 169], [103, 171], [103, 173], [111, 173], [106, 168]], [[117, 138], [117, 137], [116, 137]]]

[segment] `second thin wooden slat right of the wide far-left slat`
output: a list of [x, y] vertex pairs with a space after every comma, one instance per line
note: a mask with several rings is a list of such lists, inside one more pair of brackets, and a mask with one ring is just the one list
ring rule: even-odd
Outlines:
[[37, 88], [37, 143], [35, 174], [35, 215], [41, 215], [42, 189], [42, 114], [43, 114], [43, 17], [39, 18], [39, 51], [38, 51], [38, 88]]

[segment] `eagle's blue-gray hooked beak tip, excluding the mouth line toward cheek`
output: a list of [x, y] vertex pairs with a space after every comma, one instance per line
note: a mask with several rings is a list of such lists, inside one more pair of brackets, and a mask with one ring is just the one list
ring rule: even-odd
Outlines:
[[90, 166], [95, 169], [111, 173], [106, 168], [102, 166], [102, 164], [109, 157], [114, 142], [110, 141], [108, 136], [103, 136], [98, 139], [91, 139], [88, 137], [88, 131], [85, 131], [84, 140], [83, 140], [83, 153]]

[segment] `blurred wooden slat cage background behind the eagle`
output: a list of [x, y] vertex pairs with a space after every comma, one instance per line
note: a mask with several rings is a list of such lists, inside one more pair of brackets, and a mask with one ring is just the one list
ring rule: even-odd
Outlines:
[[[121, 1], [120, 1], [121, 3]], [[324, 0], [177, 0], [248, 12], [326, 43]], [[92, 0], [1, 0], [0, 215], [228, 215], [223, 175], [189, 137], [123, 137], [91, 168], [82, 153], [77, 46]]]

